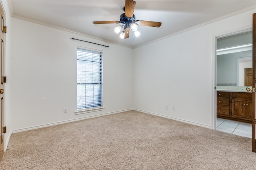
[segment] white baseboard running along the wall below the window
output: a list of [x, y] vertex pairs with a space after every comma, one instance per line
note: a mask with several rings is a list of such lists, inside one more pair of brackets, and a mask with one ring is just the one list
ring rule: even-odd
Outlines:
[[[33, 130], [33, 129], [39, 129], [39, 128], [42, 128], [42, 127], [49, 127], [49, 126], [54, 126], [54, 125], [60, 125], [60, 124], [63, 124], [63, 123], [70, 123], [70, 122], [74, 122], [74, 121], [80, 121], [80, 120], [84, 120], [84, 119], [90, 119], [90, 118], [94, 118], [94, 117], [111, 115], [111, 114], [121, 113], [121, 112], [124, 112], [124, 111], [131, 111], [131, 110], [133, 110], [133, 109], [124, 109], [124, 110], [119, 110], [119, 111], [112, 111], [112, 112], [102, 113], [102, 114], [98, 114], [98, 115], [80, 117], [80, 118], [77, 118], [77, 119], [70, 119], [70, 120], [66, 120], [66, 121], [58, 121], [58, 122], [48, 123], [48, 124], [44, 124], [44, 125], [26, 127], [26, 128], [22, 128], [22, 129], [15, 129], [15, 130], [11, 130], [10, 135], [12, 133], [18, 133], [18, 132], [22, 132], [22, 131], [29, 131], [29, 130]], [[9, 137], [9, 139], [10, 139], [10, 137]]]

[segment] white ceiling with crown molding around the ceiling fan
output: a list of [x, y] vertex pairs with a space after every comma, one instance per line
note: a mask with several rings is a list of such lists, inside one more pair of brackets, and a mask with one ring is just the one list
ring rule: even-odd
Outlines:
[[138, 26], [141, 33], [138, 38], [131, 31], [128, 39], [120, 39], [114, 32], [116, 23], [92, 23], [119, 20], [124, 4], [125, 0], [9, 0], [13, 17], [62, 27], [131, 48], [251, 8], [256, 0], [136, 0], [136, 20], [162, 22], [159, 28]]

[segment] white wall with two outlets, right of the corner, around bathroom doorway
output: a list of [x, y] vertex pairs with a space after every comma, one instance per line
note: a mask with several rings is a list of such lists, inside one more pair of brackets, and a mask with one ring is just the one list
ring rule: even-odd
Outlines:
[[214, 37], [252, 27], [255, 12], [253, 8], [134, 49], [134, 108], [214, 127]]

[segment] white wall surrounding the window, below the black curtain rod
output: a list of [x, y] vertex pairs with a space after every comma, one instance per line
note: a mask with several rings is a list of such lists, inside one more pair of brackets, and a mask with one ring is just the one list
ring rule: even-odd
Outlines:
[[[12, 131], [132, 108], [132, 49], [16, 18], [11, 40]], [[104, 111], [74, 114], [77, 46], [103, 51]]]

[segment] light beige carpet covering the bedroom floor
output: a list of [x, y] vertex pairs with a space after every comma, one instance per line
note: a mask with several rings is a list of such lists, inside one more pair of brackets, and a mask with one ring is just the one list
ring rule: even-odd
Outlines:
[[137, 111], [12, 134], [4, 170], [256, 169], [251, 139]]

